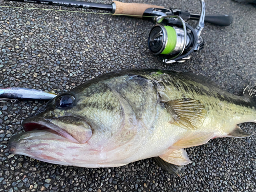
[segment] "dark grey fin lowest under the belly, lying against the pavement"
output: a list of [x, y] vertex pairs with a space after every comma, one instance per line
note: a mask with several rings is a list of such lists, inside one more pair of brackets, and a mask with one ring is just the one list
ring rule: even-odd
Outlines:
[[162, 169], [166, 170], [166, 172], [168, 172], [169, 174], [174, 174], [174, 175], [178, 175], [178, 176], [183, 175], [182, 174], [183, 166], [168, 163], [168, 162], [162, 160], [160, 157], [154, 157], [154, 160]]

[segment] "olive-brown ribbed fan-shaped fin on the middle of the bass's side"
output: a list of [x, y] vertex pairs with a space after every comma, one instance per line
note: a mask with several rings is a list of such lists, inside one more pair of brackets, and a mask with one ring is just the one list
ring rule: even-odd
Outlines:
[[204, 105], [199, 100], [191, 98], [168, 101], [165, 108], [173, 117], [172, 123], [188, 130], [197, 130], [206, 114]]

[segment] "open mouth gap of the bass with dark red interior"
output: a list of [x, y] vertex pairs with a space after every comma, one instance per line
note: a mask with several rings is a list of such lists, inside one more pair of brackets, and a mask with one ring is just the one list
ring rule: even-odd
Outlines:
[[68, 134], [66, 131], [62, 130], [56, 124], [45, 119], [30, 117], [23, 121], [22, 126], [25, 132], [37, 131], [37, 130], [46, 130], [46, 131], [51, 130], [52, 133], [61, 135], [62, 137], [65, 137], [69, 141], [79, 144], [79, 142], [70, 134]]

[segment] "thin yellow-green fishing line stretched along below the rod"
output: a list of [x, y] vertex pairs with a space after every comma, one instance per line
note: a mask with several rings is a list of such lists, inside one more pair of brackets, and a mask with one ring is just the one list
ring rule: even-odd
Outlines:
[[62, 11], [62, 12], [73, 12], [73, 13], [92, 13], [92, 14], [105, 14], [105, 15], [122, 15], [122, 16], [131, 16], [131, 17], [155, 17], [147, 15], [127, 15], [127, 14], [114, 14], [114, 13], [99, 13], [99, 12], [87, 12], [87, 11], [71, 11], [71, 10], [59, 10], [59, 9], [42, 9], [42, 8], [29, 8], [29, 7], [12, 7], [12, 6], [1, 6], [6, 8], [14, 9], [35, 9], [35, 10], [45, 10], [45, 11]]

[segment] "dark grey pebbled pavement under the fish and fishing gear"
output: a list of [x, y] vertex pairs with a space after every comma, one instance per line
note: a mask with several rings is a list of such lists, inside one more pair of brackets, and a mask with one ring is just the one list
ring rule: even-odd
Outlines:
[[[110, 3], [110, 1], [94, 1]], [[127, 0], [126, 2], [132, 2]], [[133, 1], [199, 12], [199, 1]], [[78, 10], [0, 0], [0, 6]], [[165, 65], [148, 50], [153, 23], [138, 18], [0, 7], [0, 87], [68, 91], [97, 75], [128, 68], [194, 72], [240, 94], [256, 80], [256, 6], [206, 1], [207, 14], [231, 14], [229, 27], [205, 25], [205, 48], [185, 63]], [[194, 25], [194, 22], [191, 25]], [[115, 168], [81, 168], [12, 155], [7, 142], [43, 101], [0, 103], [0, 191], [256, 191], [256, 136], [218, 138], [187, 148], [184, 176], [153, 159]], [[241, 125], [246, 132], [255, 124]]]

